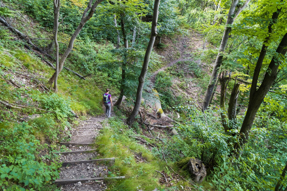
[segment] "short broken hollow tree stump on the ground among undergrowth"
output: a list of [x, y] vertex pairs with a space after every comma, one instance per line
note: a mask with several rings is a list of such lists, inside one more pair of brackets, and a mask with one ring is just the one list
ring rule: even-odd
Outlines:
[[197, 160], [195, 158], [189, 159], [187, 163], [188, 170], [192, 174], [194, 181], [197, 183], [201, 183], [204, 177], [206, 176], [206, 169], [201, 160]]

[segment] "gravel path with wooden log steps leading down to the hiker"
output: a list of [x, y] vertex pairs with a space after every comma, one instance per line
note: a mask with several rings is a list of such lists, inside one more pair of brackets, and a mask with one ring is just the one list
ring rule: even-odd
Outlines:
[[[111, 114], [112, 116], [114, 113]], [[115, 158], [97, 159], [96, 136], [103, 128], [105, 116], [90, 117], [80, 121], [71, 131], [70, 142], [60, 142], [66, 145], [69, 151], [55, 153], [60, 155], [62, 167], [59, 169], [60, 179], [55, 181], [63, 191], [102, 191], [106, 190], [103, 180], [109, 179], [108, 167], [115, 163]], [[124, 178], [124, 177], [112, 177]]]

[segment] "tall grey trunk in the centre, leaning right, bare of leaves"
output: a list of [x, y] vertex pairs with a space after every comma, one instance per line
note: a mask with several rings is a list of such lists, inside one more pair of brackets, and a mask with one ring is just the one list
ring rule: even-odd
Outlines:
[[135, 100], [135, 106], [133, 107], [133, 111], [131, 115], [127, 119], [127, 124], [132, 124], [135, 120], [135, 116], [137, 116], [139, 112], [139, 107], [141, 105], [141, 96], [144, 87], [144, 81], [146, 79], [146, 73], [148, 71], [148, 63], [150, 61], [150, 54], [152, 52], [152, 47], [154, 46], [154, 40], [156, 39], [156, 26], [158, 22], [158, 7], [160, 5], [160, 0], [154, 1], [154, 13], [152, 17], [152, 30], [150, 33], [150, 41], [148, 42], [148, 47], [146, 49], [146, 54], [144, 57], [143, 67], [141, 68], [141, 74], [139, 75], [139, 85], [137, 86], [137, 98]]

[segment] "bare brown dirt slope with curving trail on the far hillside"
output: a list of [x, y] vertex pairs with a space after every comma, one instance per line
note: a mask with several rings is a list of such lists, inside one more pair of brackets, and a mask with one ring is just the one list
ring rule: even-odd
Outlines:
[[[203, 39], [201, 39], [201, 35], [197, 32], [190, 31], [189, 33], [190, 34], [186, 36], [178, 36], [175, 39], [176, 42], [172, 42], [168, 38], [162, 38], [162, 42], [167, 43], [168, 48], [164, 48], [163, 50], [157, 49], [157, 52], [161, 56], [165, 57], [164, 62], [168, 64], [161, 67], [151, 75], [150, 80], [153, 84], [155, 83], [156, 75], [160, 71], [164, 71], [168, 67], [181, 61], [194, 61], [193, 52], [198, 48], [202, 48]], [[177, 59], [174, 59], [174, 54], [179, 54]]]

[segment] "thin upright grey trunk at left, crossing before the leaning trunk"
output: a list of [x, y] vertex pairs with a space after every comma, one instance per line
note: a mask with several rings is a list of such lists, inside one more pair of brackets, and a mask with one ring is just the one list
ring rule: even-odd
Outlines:
[[59, 27], [59, 12], [60, 12], [61, 0], [54, 0], [54, 42], [56, 47], [56, 71], [55, 71], [55, 81], [54, 89], [55, 92], [58, 91], [57, 88], [57, 79], [59, 74], [59, 43], [57, 40], [58, 27]]

